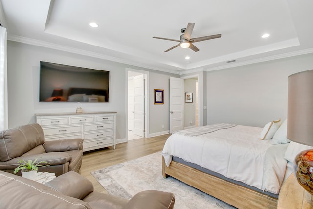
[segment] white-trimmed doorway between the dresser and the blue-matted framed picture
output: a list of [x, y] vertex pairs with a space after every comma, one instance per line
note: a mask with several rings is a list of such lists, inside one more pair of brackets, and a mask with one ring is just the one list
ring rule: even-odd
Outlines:
[[147, 72], [127, 69], [127, 140], [147, 137]]

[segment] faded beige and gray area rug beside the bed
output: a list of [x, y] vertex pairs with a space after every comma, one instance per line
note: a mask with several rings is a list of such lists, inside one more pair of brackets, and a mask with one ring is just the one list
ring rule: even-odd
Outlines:
[[109, 194], [126, 199], [140, 191], [155, 189], [174, 193], [174, 209], [235, 209], [173, 177], [164, 179], [161, 152], [93, 171], [91, 174]]

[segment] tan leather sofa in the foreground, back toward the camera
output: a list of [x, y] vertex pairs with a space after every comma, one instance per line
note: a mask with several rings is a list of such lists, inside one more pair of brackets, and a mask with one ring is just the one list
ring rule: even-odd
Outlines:
[[0, 209], [173, 209], [174, 194], [156, 190], [130, 200], [93, 191], [92, 183], [70, 171], [44, 184], [0, 171]]

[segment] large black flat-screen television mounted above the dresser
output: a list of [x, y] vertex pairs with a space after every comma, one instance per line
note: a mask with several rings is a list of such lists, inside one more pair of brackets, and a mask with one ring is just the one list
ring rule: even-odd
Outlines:
[[109, 71], [40, 61], [40, 102], [109, 102]]

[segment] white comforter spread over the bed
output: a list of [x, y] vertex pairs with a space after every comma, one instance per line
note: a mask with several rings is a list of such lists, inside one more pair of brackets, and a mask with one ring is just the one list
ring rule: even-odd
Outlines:
[[176, 156], [227, 178], [278, 194], [286, 171], [283, 155], [287, 144], [272, 145], [270, 140], [259, 139], [261, 130], [237, 125], [193, 137], [178, 131], [167, 139], [162, 155], [167, 166], [172, 156]]

